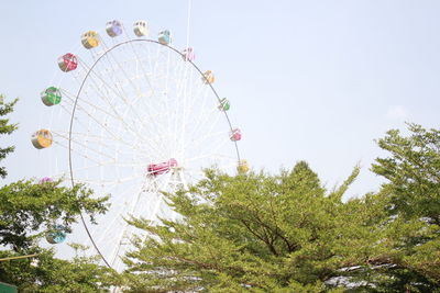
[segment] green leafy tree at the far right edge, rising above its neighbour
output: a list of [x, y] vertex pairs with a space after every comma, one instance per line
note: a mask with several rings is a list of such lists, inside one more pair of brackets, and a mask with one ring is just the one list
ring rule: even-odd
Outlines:
[[372, 170], [386, 181], [346, 203], [359, 214], [341, 273], [353, 292], [440, 292], [440, 132], [416, 124], [409, 132], [377, 140], [388, 156]]

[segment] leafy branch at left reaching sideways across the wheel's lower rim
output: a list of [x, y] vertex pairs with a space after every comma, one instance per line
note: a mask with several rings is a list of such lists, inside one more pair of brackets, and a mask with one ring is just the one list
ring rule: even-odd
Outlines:
[[81, 211], [94, 219], [95, 214], [107, 211], [108, 198], [91, 195], [92, 191], [81, 184], [65, 188], [61, 181], [18, 181], [0, 188], [0, 244], [19, 251], [29, 248], [42, 236], [38, 232], [55, 223], [69, 232]]

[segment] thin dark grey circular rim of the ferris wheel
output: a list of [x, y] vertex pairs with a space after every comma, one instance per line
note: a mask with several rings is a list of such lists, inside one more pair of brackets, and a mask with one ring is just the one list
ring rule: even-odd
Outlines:
[[[118, 48], [118, 47], [120, 47], [120, 46], [123, 46], [123, 45], [127, 45], [127, 44], [130, 44], [130, 43], [138, 43], [138, 42], [146, 42], [146, 43], [152, 43], [152, 44], [161, 45], [161, 46], [167, 47], [167, 48], [170, 49], [172, 52], [174, 52], [174, 53], [178, 54], [179, 56], [183, 56], [183, 57], [184, 57], [184, 54], [180, 53], [180, 52], [179, 52], [178, 49], [176, 49], [175, 47], [169, 46], [169, 45], [162, 44], [162, 43], [160, 43], [158, 41], [154, 41], [154, 40], [150, 40], [150, 38], [131, 38], [131, 40], [128, 40], [128, 41], [120, 42], [120, 43], [118, 43], [118, 44], [116, 44], [116, 45], [113, 45], [113, 46], [107, 48], [107, 49], [94, 61], [94, 64], [92, 64], [90, 67], [88, 67], [88, 69], [86, 70], [86, 74], [85, 74], [85, 76], [84, 76], [84, 78], [82, 78], [82, 81], [81, 81], [81, 83], [80, 83], [80, 86], [79, 86], [79, 89], [78, 89], [78, 91], [77, 91], [77, 94], [75, 95], [75, 101], [74, 101], [74, 104], [73, 104], [73, 110], [72, 110], [72, 114], [70, 114], [70, 122], [69, 122], [69, 131], [68, 131], [68, 164], [69, 164], [69, 173], [70, 173], [72, 187], [75, 187], [74, 168], [73, 168], [73, 149], [72, 149], [73, 137], [72, 137], [72, 136], [73, 136], [73, 126], [74, 126], [75, 113], [76, 113], [76, 109], [77, 109], [77, 104], [78, 104], [78, 99], [79, 99], [79, 97], [80, 97], [80, 94], [81, 94], [81, 92], [82, 92], [82, 88], [84, 88], [86, 81], [88, 80], [90, 74], [94, 71], [95, 67], [99, 64], [99, 61], [100, 61], [105, 56], [107, 56], [110, 52], [112, 52], [113, 49], [116, 49], [116, 48]], [[207, 78], [205, 77], [204, 72], [200, 70], [200, 68], [199, 68], [193, 60], [186, 59], [186, 61], [189, 63], [189, 64], [197, 70], [197, 72], [200, 75], [200, 77], [201, 77], [202, 79], [205, 79], [206, 81], [208, 81]], [[206, 83], [207, 83], [207, 86], [210, 87], [210, 90], [211, 90], [212, 93], [216, 95], [218, 102], [221, 103], [221, 98], [220, 98], [219, 94], [217, 93], [217, 91], [216, 91], [216, 89], [213, 88], [212, 83], [211, 83], [211, 82], [206, 82]], [[229, 115], [228, 115], [227, 111], [222, 111], [222, 112], [223, 112], [223, 114], [224, 114], [224, 116], [226, 116], [226, 119], [227, 119], [227, 121], [228, 121], [229, 128], [230, 128], [230, 131], [232, 132], [232, 131], [233, 131], [233, 127], [232, 127], [231, 120], [229, 119]], [[233, 140], [232, 143], [234, 144], [237, 160], [240, 162], [240, 150], [239, 150], [239, 147], [238, 147], [238, 143], [237, 143], [237, 140]], [[91, 232], [90, 232], [90, 229], [89, 229], [89, 227], [88, 227], [88, 225], [87, 225], [87, 223], [86, 223], [86, 221], [85, 221], [85, 216], [84, 216], [84, 214], [82, 214], [82, 211], [80, 211], [80, 219], [81, 219], [82, 226], [85, 227], [86, 233], [87, 233], [87, 235], [88, 235], [88, 238], [90, 239], [90, 241], [91, 241], [94, 248], [96, 249], [96, 251], [98, 252], [98, 255], [101, 257], [101, 259], [103, 260], [103, 262], [107, 264], [107, 267], [109, 267], [109, 268], [112, 269], [112, 266], [108, 262], [107, 258], [102, 255], [101, 250], [99, 249], [98, 245], [96, 244], [96, 241], [95, 241], [95, 239], [94, 239], [94, 236], [91, 235]]]

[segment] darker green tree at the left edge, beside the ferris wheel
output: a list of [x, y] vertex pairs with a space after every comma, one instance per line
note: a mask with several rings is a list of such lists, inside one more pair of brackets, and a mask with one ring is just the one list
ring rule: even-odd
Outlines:
[[[13, 111], [16, 100], [3, 103], [0, 95], [0, 116]], [[16, 124], [0, 120], [0, 134], [11, 134]], [[0, 148], [0, 160], [14, 147]], [[7, 170], [0, 168], [4, 178]], [[32, 260], [13, 259], [0, 262], [0, 281], [16, 284], [19, 292], [105, 292], [110, 286], [109, 270], [94, 258], [76, 257], [72, 261], [54, 257], [54, 249], [38, 246], [48, 229], [61, 225], [66, 233], [82, 213], [94, 221], [107, 211], [108, 196], [96, 198], [82, 184], [64, 187], [62, 181], [38, 182], [21, 180], [0, 188], [0, 258], [37, 255]]]

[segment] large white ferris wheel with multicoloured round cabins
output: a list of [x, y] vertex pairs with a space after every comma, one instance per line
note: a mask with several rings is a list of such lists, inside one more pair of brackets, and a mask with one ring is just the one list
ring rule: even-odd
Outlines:
[[[157, 224], [178, 218], [163, 192], [195, 183], [204, 168], [249, 169], [240, 158], [241, 131], [228, 115], [230, 101], [212, 86], [213, 72], [196, 66], [191, 47], [173, 47], [169, 31], [160, 32], [157, 41], [148, 31], [145, 21], [133, 24], [133, 35], [110, 21], [103, 34], [84, 33], [82, 50], [57, 60], [64, 71], [59, 84], [41, 94], [59, 114], [51, 114], [51, 126], [32, 136], [35, 148], [58, 158], [51, 178], [110, 195], [110, 210], [98, 225], [81, 219], [87, 241], [117, 270], [139, 233], [124, 218]], [[56, 227], [51, 244], [66, 238]]]

